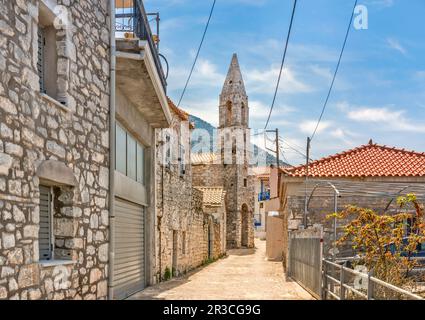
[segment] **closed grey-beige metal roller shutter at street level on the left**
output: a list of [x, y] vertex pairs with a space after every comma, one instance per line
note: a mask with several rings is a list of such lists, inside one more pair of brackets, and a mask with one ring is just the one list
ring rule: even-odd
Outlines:
[[145, 224], [143, 207], [115, 199], [114, 299], [145, 287]]

